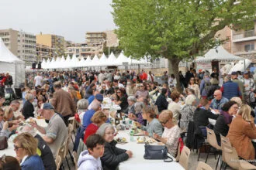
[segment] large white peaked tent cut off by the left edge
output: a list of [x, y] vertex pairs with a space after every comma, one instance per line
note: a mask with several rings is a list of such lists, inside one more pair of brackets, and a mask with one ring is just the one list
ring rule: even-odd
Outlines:
[[25, 82], [25, 63], [13, 55], [0, 38], [0, 73], [7, 72], [12, 76], [14, 87]]

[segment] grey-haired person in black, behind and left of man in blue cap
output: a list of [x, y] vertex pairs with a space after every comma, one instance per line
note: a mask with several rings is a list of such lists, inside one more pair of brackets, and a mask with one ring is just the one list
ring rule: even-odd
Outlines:
[[33, 107], [33, 101], [34, 101], [34, 96], [32, 93], [27, 93], [26, 94], [26, 102], [23, 105], [22, 108], [22, 114], [25, 117], [25, 119], [29, 117], [34, 117], [34, 107]]

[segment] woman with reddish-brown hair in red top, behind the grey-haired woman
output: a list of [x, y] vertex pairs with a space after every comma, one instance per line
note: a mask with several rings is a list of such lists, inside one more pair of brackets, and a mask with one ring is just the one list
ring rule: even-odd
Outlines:
[[97, 111], [95, 114], [92, 116], [92, 124], [89, 124], [88, 127], [85, 129], [85, 134], [84, 134], [84, 143], [86, 142], [86, 139], [92, 135], [95, 134], [96, 131], [99, 129], [99, 127], [104, 124], [107, 121], [106, 114], [103, 113], [102, 111]]

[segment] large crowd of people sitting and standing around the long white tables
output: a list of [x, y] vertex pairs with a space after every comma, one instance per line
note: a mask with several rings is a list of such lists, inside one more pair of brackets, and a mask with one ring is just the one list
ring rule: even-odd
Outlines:
[[[0, 78], [0, 89], [7, 86], [1, 85], [6, 77]], [[219, 145], [220, 135], [227, 136], [241, 158], [255, 158], [256, 145], [251, 140], [256, 138], [256, 89], [250, 72], [220, 75], [215, 68], [211, 74], [190, 69], [185, 76], [179, 72], [179, 83], [167, 72], [157, 82], [151, 71], [144, 70], [46, 71], [36, 76], [27, 73], [26, 77], [22, 102], [12, 100], [10, 106], [0, 108], [0, 136], [9, 138], [19, 131], [13, 140], [16, 158], [2, 155], [0, 169], [15, 165], [22, 170], [34, 165], [36, 169], [56, 169], [54, 160], [67, 138], [71, 117], [79, 124], [74, 151], [80, 141], [87, 148], [79, 152], [78, 169], [115, 169], [133, 157], [133, 151], [116, 147], [116, 131], [109, 117], [117, 114], [135, 121], [144, 134], [164, 143], [173, 157], [181, 136], [189, 141], [189, 131], [196, 124], [202, 137], [207, 135], [206, 128], [212, 128]], [[103, 103], [105, 97], [119, 105], [117, 113], [110, 113]], [[43, 117], [47, 127], [36, 121], [21, 127], [29, 117]]]

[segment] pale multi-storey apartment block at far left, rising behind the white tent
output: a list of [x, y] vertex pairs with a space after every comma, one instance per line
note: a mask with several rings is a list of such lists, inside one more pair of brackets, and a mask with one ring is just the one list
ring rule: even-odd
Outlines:
[[36, 36], [28, 32], [2, 29], [0, 37], [14, 55], [25, 61], [26, 66], [36, 61]]

